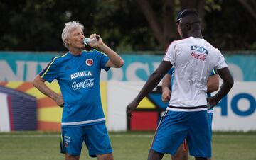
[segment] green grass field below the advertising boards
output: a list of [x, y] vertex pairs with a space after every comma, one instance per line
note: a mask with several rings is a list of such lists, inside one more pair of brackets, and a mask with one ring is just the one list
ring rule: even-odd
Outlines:
[[[153, 132], [110, 132], [114, 159], [146, 159], [153, 135]], [[0, 133], [0, 160], [63, 160], [59, 146], [58, 133]], [[256, 160], [256, 132], [214, 132], [213, 157], [215, 160]], [[92, 159], [85, 146], [80, 159]], [[163, 159], [171, 158], [167, 154]]]

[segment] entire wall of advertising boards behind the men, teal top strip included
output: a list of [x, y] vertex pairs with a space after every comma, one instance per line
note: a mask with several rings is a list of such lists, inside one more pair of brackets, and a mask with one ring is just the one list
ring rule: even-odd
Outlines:
[[[53, 57], [63, 54], [64, 52], [0, 52], [0, 86], [5, 87], [5, 91], [0, 91], [0, 112], [3, 113], [0, 117], [0, 131], [60, 130], [62, 108], [33, 87], [32, 81]], [[166, 107], [161, 102], [161, 88], [156, 88], [144, 98], [132, 119], [127, 119], [125, 109], [139, 93], [149, 75], [159, 66], [163, 55], [125, 53], [121, 57], [124, 59], [122, 68], [101, 72], [100, 89], [108, 130], [155, 130]], [[228, 96], [215, 107], [213, 130], [256, 130], [256, 55], [241, 52], [224, 57], [235, 79], [235, 85]], [[57, 81], [46, 84], [60, 93]], [[11, 94], [21, 95], [21, 92], [24, 93], [23, 96]], [[25, 103], [16, 101], [29, 103], [25, 106]], [[26, 110], [28, 106], [32, 106], [31, 110]], [[20, 108], [26, 110], [31, 117], [26, 115], [28, 117], [22, 119], [18, 115]], [[26, 120], [31, 120], [31, 125], [23, 127], [22, 122]]]

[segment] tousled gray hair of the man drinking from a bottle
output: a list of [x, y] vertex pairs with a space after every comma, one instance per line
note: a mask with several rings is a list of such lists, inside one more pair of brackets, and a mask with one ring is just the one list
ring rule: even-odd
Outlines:
[[71, 21], [71, 22], [65, 23], [65, 27], [63, 28], [63, 33], [61, 34], [61, 38], [66, 48], [68, 48], [68, 44], [65, 42], [65, 39], [67, 39], [70, 36], [71, 31], [77, 28], [81, 28], [82, 30], [84, 30], [84, 25], [82, 25], [78, 21]]

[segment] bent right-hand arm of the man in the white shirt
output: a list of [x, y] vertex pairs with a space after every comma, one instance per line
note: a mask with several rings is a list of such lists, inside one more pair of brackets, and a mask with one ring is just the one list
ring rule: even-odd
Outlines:
[[220, 86], [220, 90], [213, 97], [208, 98], [208, 102], [211, 106], [216, 105], [232, 88], [234, 84], [233, 77], [230, 74], [228, 67], [218, 69], [220, 78], [223, 79], [223, 84]]

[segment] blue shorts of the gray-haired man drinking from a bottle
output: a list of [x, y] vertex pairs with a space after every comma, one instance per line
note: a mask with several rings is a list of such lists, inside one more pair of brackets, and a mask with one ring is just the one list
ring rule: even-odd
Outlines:
[[110, 137], [107, 134], [105, 123], [85, 125], [80, 127], [63, 127], [60, 141], [60, 152], [73, 156], [81, 154], [82, 142], [91, 157], [97, 154], [112, 153]]

